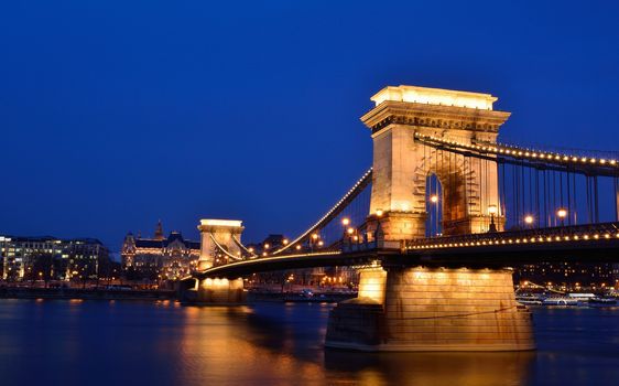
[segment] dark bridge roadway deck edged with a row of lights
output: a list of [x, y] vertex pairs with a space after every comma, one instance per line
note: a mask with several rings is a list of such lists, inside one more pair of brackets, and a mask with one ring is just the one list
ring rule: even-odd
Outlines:
[[314, 267], [365, 266], [513, 267], [542, 261], [618, 262], [619, 223], [343, 244], [340, 250], [261, 257], [196, 272], [194, 277], [238, 278]]

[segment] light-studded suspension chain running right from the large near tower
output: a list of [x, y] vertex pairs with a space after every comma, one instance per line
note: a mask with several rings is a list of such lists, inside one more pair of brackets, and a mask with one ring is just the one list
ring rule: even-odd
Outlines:
[[594, 164], [601, 164], [601, 165], [612, 165], [619, 167], [617, 160], [606, 160], [604, 158], [596, 159], [596, 158], [587, 158], [587, 157], [576, 157], [576, 156], [567, 156], [567, 154], [557, 154], [557, 153], [550, 153], [543, 151], [530, 151], [530, 150], [522, 150], [520, 148], [513, 146], [479, 146], [479, 144], [469, 144], [464, 142], [458, 142], [454, 140], [447, 140], [444, 138], [438, 138], [434, 136], [426, 136], [420, 132], [415, 132], [415, 137], [417, 138], [426, 138], [436, 142], [441, 142], [444, 144], [453, 144], [460, 148], [471, 149], [471, 150], [481, 150], [481, 151], [489, 151], [499, 154], [509, 154], [520, 158], [529, 158], [529, 159], [541, 159], [541, 160], [549, 160], [549, 161], [561, 161], [561, 162], [578, 162], [578, 163], [594, 163]]

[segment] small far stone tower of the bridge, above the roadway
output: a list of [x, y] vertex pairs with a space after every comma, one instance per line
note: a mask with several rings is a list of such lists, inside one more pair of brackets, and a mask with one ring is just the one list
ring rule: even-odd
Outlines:
[[[241, 256], [239, 247], [241, 234], [245, 229], [242, 222], [238, 219], [200, 219], [198, 225], [200, 232], [200, 254], [198, 270], [229, 262], [229, 256], [219, 256], [219, 244], [230, 255]], [[237, 239], [235, 242], [235, 238]], [[218, 260], [220, 258], [221, 260]]]

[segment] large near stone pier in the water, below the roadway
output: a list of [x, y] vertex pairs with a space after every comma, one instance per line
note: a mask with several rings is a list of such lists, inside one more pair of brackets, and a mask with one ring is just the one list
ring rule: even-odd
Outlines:
[[325, 345], [360, 351], [534, 350], [509, 269], [381, 267], [332, 310]]

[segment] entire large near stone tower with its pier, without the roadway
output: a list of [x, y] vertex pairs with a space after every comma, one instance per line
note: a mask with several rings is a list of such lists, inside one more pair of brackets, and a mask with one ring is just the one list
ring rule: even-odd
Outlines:
[[[497, 163], [442, 151], [416, 137], [496, 143], [510, 115], [492, 110], [496, 97], [399, 86], [383, 88], [372, 100], [376, 107], [361, 118], [373, 139], [368, 235], [383, 245], [425, 237], [432, 174], [443, 187], [444, 234], [488, 232], [490, 207], [498, 211], [497, 230], [503, 228]], [[358, 298], [330, 311], [325, 345], [363, 351], [535, 347], [531, 314], [515, 301], [510, 269], [442, 267], [431, 260], [360, 269]]]

